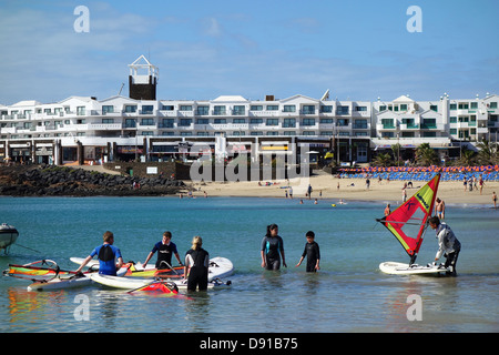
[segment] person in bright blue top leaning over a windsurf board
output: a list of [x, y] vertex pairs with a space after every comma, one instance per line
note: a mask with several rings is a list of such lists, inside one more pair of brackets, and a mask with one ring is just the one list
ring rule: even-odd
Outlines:
[[[120, 250], [113, 245], [114, 234], [106, 231], [102, 236], [104, 243], [95, 247], [92, 253], [81, 263], [80, 267], [75, 271], [80, 273], [81, 270], [95, 256], [99, 258], [99, 274], [103, 275], [116, 275], [116, 270], [120, 270], [123, 265], [123, 257], [121, 256]], [[118, 263], [116, 263], [118, 260]]]

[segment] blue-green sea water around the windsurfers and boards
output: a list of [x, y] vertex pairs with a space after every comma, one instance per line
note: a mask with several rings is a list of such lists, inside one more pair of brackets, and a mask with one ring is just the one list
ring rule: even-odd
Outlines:
[[[499, 210], [447, 206], [446, 222], [462, 244], [459, 275], [436, 277], [379, 272], [380, 262], [408, 262], [398, 241], [375, 222], [384, 207], [256, 197], [1, 197], [0, 222], [20, 232], [9, 255], [0, 256], [1, 270], [42, 258], [75, 270], [69, 258], [88, 256], [105, 231], [114, 233], [125, 262], [143, 262], [171, 231], [182, 256], [200, 235], [212, 257], [230, 258], [235, 270], [230, 287], [192, 300], [98, 284], [29, 292], [29, 281], [2, 276], [0, 332], [498, 332]], [[261, 267], [271, 223], [284, 240], [287, 267], [279, 272]], [[306, 273], [306, 262], [295, 267], [307, 231], [320, 246], [318, 273]], [[432, 262], [436, 251], [428, 230], [418, 262]]]

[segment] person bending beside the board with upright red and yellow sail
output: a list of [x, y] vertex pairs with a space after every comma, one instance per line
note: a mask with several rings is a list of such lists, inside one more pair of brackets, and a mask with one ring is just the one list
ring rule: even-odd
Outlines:
[[456, 276], [456, 264], [461, 251], [461, 243], [459, 243], [450, 227], [446, 223], [441, 223], [437, 216], [429, 219], [429, 225], [436, 231], [438, 240], [438, 251], [435, 255], [435, 261], [438, 261], [444, 255], [446, 257], [445, 267], [450, 268], [447, 274]]

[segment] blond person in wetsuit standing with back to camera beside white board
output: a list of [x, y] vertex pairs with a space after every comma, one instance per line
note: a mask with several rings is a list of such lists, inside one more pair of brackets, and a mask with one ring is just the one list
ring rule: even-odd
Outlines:
[[207, 290], [210, 254], [203, 247], [201, 236], [192, 239], [192, 247], [185, 253], [184, 275], [187, 278], [187, 291]]

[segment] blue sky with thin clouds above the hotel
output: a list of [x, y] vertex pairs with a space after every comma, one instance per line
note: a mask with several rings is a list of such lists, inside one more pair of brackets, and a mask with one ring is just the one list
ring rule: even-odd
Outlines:
[[6, 105], [128, 95], [141, 54], [160, 100], [499, 94], [497, 0], [0, 0], [0, 19]]

